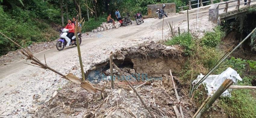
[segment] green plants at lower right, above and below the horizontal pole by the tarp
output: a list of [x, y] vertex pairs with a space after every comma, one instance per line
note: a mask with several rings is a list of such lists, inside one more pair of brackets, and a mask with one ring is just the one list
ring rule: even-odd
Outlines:
[[[226, 70], [227, 67], [231, 67], [235, 69], [240, 76], [244, 76], [242, 78], [243, 81], [238, 81], [238, 85], [251, 86], [251, 80], [255, 79], [256, 76], [245, 74], [245, 69], [246, 65], [253, 65], [252, 63], [255, 64], [255, 61], [232, 57], [231, 59], [226, 60], [220, 68], [216, 70], [216, 74], [220, 74]], [[252, 71], [255, 71], [253, 69], [255, 68], [255, 65], [249, 67]], [[223, 108], [226, 114], [230, 117], [256, 117], [256, 99], [251, 94], [253, 92], [255, 94], [255, 90], [235, 90], [231, 92], [232, 97], [222, 97], [218, 102], [218, 106]]]

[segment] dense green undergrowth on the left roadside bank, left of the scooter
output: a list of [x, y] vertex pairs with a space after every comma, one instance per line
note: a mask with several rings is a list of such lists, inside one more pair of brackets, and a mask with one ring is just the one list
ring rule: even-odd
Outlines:
[[[0, 17], [5, 19], [0, 21], [0, 32], [19, 45], [28, 46], [33, 42], [51, 41], [58, 36], [58, 32], [54, 31], [47, 23], [33, 20], [32, 16], [34, 14], [30, 11], [17, 8], [12, 12], [4, 12], [2, 6], [0, 6]], [[0, 55], [18, 49], [14, 43], [2, 35], [0, 35], [0, 44]]]

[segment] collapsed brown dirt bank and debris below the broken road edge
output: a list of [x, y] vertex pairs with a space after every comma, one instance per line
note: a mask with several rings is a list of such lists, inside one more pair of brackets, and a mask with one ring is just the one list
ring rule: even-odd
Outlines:
[[[174, 73], [180, 71], [185, 62], [182, 55], [183, 49], [179, 46], [164, 46], [150, 42], [117, 51], [114, 53], [114, 63], [121, 68], [126, 77], [132, 78], [130, 81], [135, 87], [142, 84], [145, 79], [155, 78], [137, 91], [156, 117], [173, 117], [173, 106], [178, 103], [169, 69]], [[96, 67], [98, 68], [89, 70], [87, 75], [94, 73], [100, 78], [90, 81], [94, 81], [94, 86], [101, 88], [103, 92], [92, 95], [78, 85], [69, 83], [62, 90], [58, 90], [49, 102], [40, 105], [35, 117], [150, 117], [150, 113], [133, 90], [122, 77], [120, 78], [120, 73], [114, 69], [115, 81], [112, 90], [108, 62]], [[96, 72], [99, 69], [101, 74]], [[191, 117], [195, 108], [187, 96], [187, 91], [179, 84], [179, 79], [174, 77], [174, 80], [183, 113], [185, 117]]]

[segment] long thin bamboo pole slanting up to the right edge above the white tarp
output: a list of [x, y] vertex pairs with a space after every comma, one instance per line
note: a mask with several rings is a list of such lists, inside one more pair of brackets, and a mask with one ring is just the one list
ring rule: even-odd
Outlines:
[[231, 52], [229, 52], [228, 55], [226, 55], [225, 58], [223, 58], [207, 75], [204, 76], [204, 78], [201, 79], [201, 82], [198, 82], [197, 85], [195, 86], [194, 90], [199, 86], [199, 84], [201, 84], [215, 69], [217, 69], [221, 63], [223, 63], [223, 61], [226, 60], [226, 58], [229, 57], [229, 55], [231, 55], [239, 46], [242, 45], [242, 43], [245, 42], [245, 40], [247, 40], [252, 33], [254, 33], [256, 31], [256, 27], [251, 31], [250, 34], [247, 35], [247, 37], [244, 38], [244, 40], [242, 40]]

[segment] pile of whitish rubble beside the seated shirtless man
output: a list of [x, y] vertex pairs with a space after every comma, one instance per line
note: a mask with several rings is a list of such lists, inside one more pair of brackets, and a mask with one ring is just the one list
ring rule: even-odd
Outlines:
[[104, 31], [112, 28], [119, 28], [120, 26], [121, 26], [121, 23], [118, 21], [115, 22], [115, 25], [113, 25], [113, 23], [102, 22], [101, 26], [98, 27], [97, 29], [92, 30], [92, 32]]

